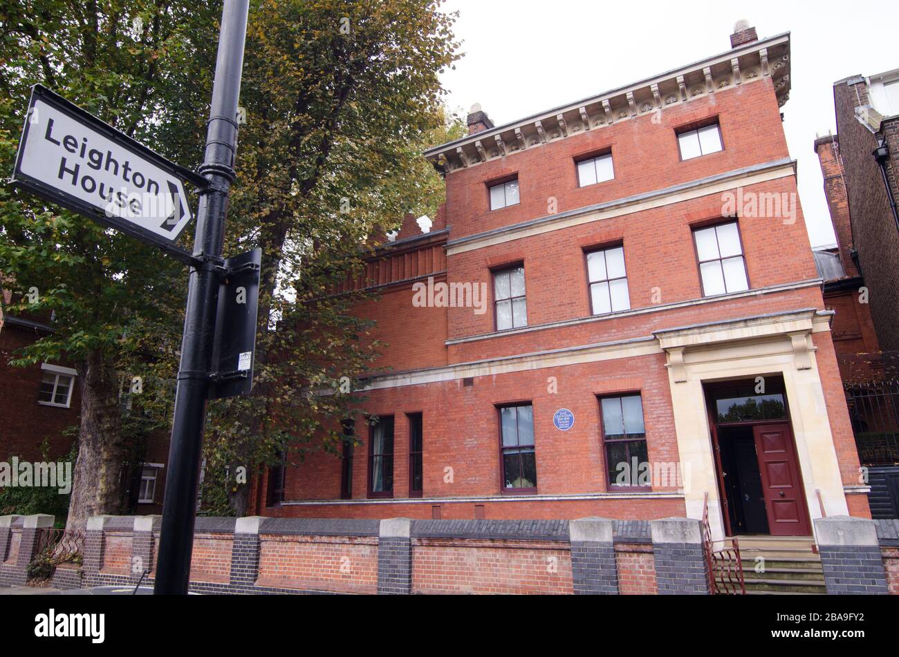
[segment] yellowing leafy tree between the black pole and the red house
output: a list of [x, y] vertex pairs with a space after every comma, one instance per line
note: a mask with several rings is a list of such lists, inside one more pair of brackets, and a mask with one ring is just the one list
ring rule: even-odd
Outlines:
[[[440, 177], [423, 147], [458, 135], [438, 75], [452, 66], [452, 15], [439, 2], [258, 0], [251, 8], [238, 181], [226, 251], [263, 249], [253, 394], [210, 405], [206, 458], [242, 481], [284, 451], [335, 451], [359, 398], [341, 381], [378, 348], [352, 316], [358, 295], [326, 293], [359, 271], [373, 234], [433, 214]], [[451, 138], [451, 137], [450, 137]], [[334, 389], [332, 395], [310, 390]], [[321, 439], [321, 440], [314, 440]], [[246, 477], [238, 478], [245, 469]]]

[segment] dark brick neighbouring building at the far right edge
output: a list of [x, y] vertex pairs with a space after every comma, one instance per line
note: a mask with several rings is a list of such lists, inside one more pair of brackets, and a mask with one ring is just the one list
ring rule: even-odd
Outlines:
[[874, 518], [899, 516], [895, 214], [899, 71], [833, 86], [838, 135], [814, 142], [837, 243], [816, 250]]

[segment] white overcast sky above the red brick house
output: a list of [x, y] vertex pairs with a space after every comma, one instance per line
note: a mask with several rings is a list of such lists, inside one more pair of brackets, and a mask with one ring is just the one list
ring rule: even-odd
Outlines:
[[724, 52], [741, 18], [760, 39], [791, 32], [782, 111], [813, 245], [835, 241], [813, 150], [816, 132], [836, 132], [833, 83], [899, 67], [895, 2], [449, 0], [444, 8], [459, 12], [465, 53], [443, 76], [449, 107], [464, 117], [479, 102], [496, 125]]

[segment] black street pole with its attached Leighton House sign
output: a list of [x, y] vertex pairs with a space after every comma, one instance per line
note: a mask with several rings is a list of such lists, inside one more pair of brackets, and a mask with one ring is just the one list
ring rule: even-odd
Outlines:
[[[200, 485], [206, 400], [250, 391], [262, 251], [222, 258], [228, 196], [236, 175], [237, 100], [249, 0], [224, 0], [206, 147], [199, 173], [36, 84], [13, 185], [191, 266], [175, 391], [156, 594], [186, 594]], [[193, 253], [175, 245], [191, 222], [184, 181], [198, 186]]]

